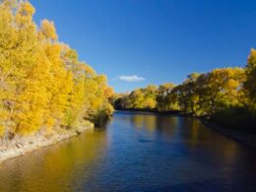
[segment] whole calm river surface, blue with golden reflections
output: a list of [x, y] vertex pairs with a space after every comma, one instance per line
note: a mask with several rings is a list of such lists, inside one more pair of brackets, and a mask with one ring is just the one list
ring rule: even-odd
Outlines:
[[256, 156], [196, 119], [116, 112], [1, 164], [0, 191], [256, 191]]

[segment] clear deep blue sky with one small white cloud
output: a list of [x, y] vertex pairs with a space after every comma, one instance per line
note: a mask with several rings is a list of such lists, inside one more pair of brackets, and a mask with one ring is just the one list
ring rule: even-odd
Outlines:
[[117, 93], [243, 67], [256, 47], [255, 0], [31, 0], [39, 25], [105, 74]]

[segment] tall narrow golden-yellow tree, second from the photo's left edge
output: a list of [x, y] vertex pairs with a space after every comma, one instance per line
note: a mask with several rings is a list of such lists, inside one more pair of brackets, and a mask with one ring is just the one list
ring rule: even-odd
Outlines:
[[[40, 74], [37, 60], [40, 46], [37, 42], [36, 26], [32, 21], [34, 8], [29, 2], [18, 4], [12, 26], [17, 35], [12, 49], [11, 82], [13, 93], [9, 99], [13, 107], [10, 115], [14, 121], [13, 131], [28, 134], [38, 130], [42, 123], [42, 112], [46, 102], [43, 88], [40, 89]], [[15, 24], [15, 25], [14, 25]], [[14, 38], [16, 39], [16, 38]]]

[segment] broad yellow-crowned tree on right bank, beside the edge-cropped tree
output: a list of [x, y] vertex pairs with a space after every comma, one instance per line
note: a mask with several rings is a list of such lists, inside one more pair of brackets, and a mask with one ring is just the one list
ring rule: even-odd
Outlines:
[[219, 106], [238, 104], [238, 94], [244, 82], [242, 68], [215, 69], [198, 78], [201, 108], [214, 114]]

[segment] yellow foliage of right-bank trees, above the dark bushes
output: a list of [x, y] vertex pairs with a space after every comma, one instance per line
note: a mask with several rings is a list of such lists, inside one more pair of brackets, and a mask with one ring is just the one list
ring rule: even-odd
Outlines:
[[148, 86], [129, 95], [115, 96], [112, 102], [118, 109], [157, 107], [160, 111], [181, 109], [195, 115], [214, 114], [220, 108], [247, 102], [245, 79], [242, 68], [215, 69], [206, 74], [193, 73], [176, 87], [173, 84], [163, 84], [159, 88]]

